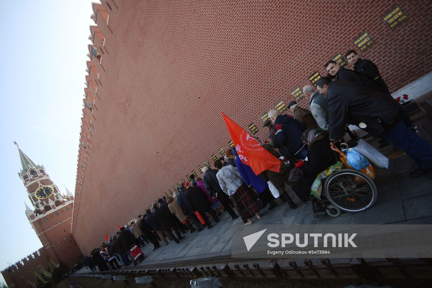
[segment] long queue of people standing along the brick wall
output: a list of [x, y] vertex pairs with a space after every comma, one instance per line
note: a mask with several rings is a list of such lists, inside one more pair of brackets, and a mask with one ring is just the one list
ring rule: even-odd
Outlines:
[[[215, 169], [204, 167], [203, 178], [191, 175], [191, 182], [179, 185], [172, 197], [163, 196], [152, 203], [152, 209], [138, 215], [127, 227], [121, 227], [108, 243], [86, 256], [83, 265], [104, 271], [108, 266], [117, 269], [136, 264], [130, 255], [132, 246], [152, 243], [154, 251], [159, 249], [160, 242], [179, 243], [187, 231], [211, 229], [223, 211], [232, 220], [240, 216], [245, 225], [250, 225], [252, 218], [261, 218], [259, 212], [266, 205], [269, 210], [276, 207], [277, 199], [290, 209], [297, 208], [290, 194], [308, 202], [317, 174], [339, 160], [330, 143], [356, 142], [348, 125], [356, 125], [380, 139], [381, 147], [392, 145], [391, 159], [408, 154], [417, 164], [410, 172], [411, 177], [431, 171], [431, 144], [416, 134], [416, 126], [391, 96], [377, 66], [359, 58], [353, 50], [347, 51], [345, 58], [354, 70], [328, 61], [324, 64], [328, 75], [317, 81], [317, 90], [311, 85], [303, 87], [309, 109], [292, 101], [288, 108], [293, 116], [282, 115], [275, 109], [268, 112], [264, 127], [269, 129], [269, 140], [262, 146], [280, 159], [278, 172], [264, 170], [256, 175], [237, 157], [235, 149], [228, 149], [225, 157], [214, 162]], [[301, 177], [293, 175], [294, 167]], [[294, 193], [287, 193], [290, 189]]]

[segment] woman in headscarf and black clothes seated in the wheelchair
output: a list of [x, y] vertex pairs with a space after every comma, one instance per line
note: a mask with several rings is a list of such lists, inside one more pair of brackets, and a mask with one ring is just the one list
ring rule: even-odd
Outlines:
[[296, 166], [303, 172], [303, 181], [292, 187], [292, 189], [305, 198], [309, 198], [312, 183], [318, 173], [323, 172], [337, 162], [335, 152], [330, 148], [328, 131], [318, 128], [303, 132], [302, 141], [307, 145], [308, 161], [302, 161]]

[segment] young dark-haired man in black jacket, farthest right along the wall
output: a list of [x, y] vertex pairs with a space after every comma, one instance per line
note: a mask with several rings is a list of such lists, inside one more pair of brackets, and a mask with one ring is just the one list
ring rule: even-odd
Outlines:
[[345, 59], [349, 64], [354, 66], [355, 71], [365, 74], [370, 80], [373, 80], [378, 84], [378, 86], [382, 88], [382, 92], [391, 95], [387, 84], [379, 74], [377, 65], [375, 65], [372, 61], [359, 58], [359, 56], [357, 56], [357, 52], [354, 50], [347, 51], [345, 53]]

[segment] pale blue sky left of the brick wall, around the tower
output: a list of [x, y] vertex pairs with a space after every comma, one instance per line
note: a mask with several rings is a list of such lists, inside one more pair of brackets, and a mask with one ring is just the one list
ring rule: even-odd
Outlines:
[[13, 141], [74, 192], [91, 0], [0, 1], [0, 269], [40, 248]]

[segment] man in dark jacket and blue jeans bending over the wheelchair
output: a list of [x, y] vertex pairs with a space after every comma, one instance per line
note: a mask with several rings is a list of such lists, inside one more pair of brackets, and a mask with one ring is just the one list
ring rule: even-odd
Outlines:
[[323, 77], [317, 82], [327, 97], [329, 138], [340, 141], [346, 124], [359, 126], [377, 138], [383, 138], [396, 149], [406, 152], [417, 164], [411, 177], [423, 176], [432, 170], [432, 146], [404, 125], [399, 103], [363, 86]]

